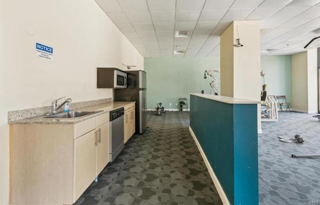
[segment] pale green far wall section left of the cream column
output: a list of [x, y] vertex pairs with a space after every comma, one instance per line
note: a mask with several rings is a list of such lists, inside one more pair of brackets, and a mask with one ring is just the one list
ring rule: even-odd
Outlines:
[[[189, 100], [190, 93], [209, 93], [211, 77], [203, 79], [204, 70], [220, 69], [218, 57], [206, 58], [144, 58], [147, 73], [147, 108], [156, 108], [159, 102], [164, 109], [177, 109], [179, 97]], [[169, 106], [171, 103], [171, 106]]]

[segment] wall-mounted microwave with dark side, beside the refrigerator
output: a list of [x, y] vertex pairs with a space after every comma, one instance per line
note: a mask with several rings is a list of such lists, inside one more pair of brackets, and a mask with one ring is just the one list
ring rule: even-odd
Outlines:
[[126, 88], [127, 73], [117, 68], [96, 69], [97, 88]]

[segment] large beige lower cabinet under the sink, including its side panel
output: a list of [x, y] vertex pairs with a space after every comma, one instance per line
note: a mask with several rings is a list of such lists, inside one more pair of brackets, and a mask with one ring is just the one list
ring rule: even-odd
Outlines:
[[11, 205], [71, 205], [109, 162], [109, 113], [11, 132]]

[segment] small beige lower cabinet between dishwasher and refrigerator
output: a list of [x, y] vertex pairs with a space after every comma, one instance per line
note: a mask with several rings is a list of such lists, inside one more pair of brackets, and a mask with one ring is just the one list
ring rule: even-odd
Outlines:
[[135, 104], [131, 103], [124, 107], [124, 143], [126, 143], [135, 132]]

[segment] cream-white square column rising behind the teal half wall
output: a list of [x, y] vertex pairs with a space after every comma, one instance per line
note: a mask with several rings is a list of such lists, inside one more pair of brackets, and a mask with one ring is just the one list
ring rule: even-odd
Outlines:
[[[236, 47], [239, 38], [243, 46]], [[220, 93], [260, 101], [260, 22], [233, 21], [220, 35]], [[261, 132], [260, 105], [257, 107]]]

